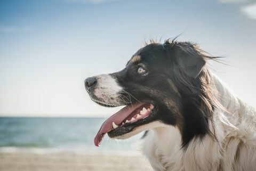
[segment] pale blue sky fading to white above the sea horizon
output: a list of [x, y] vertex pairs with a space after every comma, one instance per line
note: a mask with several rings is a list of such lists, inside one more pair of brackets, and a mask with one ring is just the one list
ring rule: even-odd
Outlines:
[[106, 117], [84, 79], [124, 68], [150, 38], [197, 43], [256, 107], [256, 1], [1, 0], [0, 116]]

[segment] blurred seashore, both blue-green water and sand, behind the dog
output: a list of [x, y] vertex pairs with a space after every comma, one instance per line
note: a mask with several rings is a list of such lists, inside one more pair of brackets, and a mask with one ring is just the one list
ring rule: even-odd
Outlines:
[[[101, 146], [104, 118], [0, 118], [1, 171], [152, 170], [134, 144], [142, 135]], [[134, 146], [134, 145], [135, 146]]]

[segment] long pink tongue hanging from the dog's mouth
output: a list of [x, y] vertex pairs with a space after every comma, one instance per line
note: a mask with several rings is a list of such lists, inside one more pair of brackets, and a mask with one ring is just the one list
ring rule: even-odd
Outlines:
[[104, 137], [104, 135], [108, 132], [110, 132], [113, 127], [112, 127], [112, 123], [114, 121], [114, 123], [116, 125], [119, 125], [122, 123], [122, 121], [129, 116], [135, 109], [141, 107], [142, 105], [144, 105], [146, 103], [137, 103], [137, 104], [133, 104], [133, 105], [127, 105], [126, 107], [124, 107], [123, 109], [119, 110], [118, 112], [116, 112], [114, 115], [110, 116], [100, 127], [99, 132], [97, 133], [97, 135], [94, 138], [94, 144], [95, 146], [100, 146], [100, 143]]

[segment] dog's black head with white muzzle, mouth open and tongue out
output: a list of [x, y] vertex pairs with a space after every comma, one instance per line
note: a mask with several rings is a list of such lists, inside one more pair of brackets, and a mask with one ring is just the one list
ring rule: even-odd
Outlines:
[[85, 87], [94, 102], [105, 107], [125, 105], [102, 124], [95, 145], [106, 133], [126, 139], [164, 125], [178, 126], [184, 144], [194, 134], [206, 133], [205, 110], [212, 110], [212, 105], [206, 104], [204, 92], [205, 59], [195, 44], [151, 43], [137, 51], [123, 70], [87, 78]]

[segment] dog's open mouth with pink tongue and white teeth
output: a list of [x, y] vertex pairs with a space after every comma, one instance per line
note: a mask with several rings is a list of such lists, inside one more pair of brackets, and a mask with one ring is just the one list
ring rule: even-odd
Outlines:
[[100, 146], [106, 133], [110, 137], [121, 136], [131, 132], [136, 126], [145, 124], [155, 107], [151, 103], [129, 104], [109, 117], [100, 127], [94, 138], [95, 146]]

